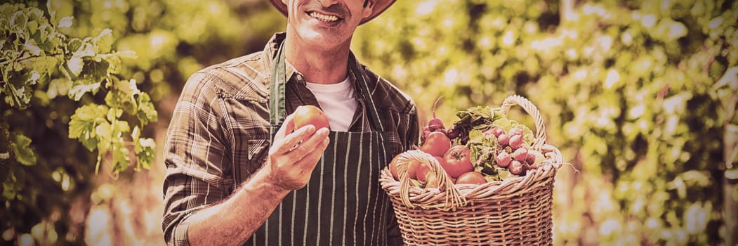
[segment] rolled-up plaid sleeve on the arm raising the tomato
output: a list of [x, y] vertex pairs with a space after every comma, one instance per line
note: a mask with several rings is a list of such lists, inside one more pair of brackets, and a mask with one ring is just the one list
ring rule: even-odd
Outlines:
[[189, 245], [187, 218], [220, 202], [232, 189], [223, 111], [210, 80], [203, 72], [190, 76], [167, 130], [162, 230], [168, 245]]

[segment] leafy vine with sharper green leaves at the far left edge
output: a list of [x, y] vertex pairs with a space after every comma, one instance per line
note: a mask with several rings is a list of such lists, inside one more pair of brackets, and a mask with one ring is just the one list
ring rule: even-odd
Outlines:
[[123, 59], [135, 54], [115, 51], [111, 30], [70, 37], [63, 29], [73, 16], [50, 2], [2, 4], [0, 16], [1, 230], [5, 239], [31, 231], [24, 243], [66, 242], [63, 211], [92, 170], [109, 165], [117, 176], [131, 164], [151, 166], [155, 143], [141, 129], [157, 113], [135, 80], [120, 77]]

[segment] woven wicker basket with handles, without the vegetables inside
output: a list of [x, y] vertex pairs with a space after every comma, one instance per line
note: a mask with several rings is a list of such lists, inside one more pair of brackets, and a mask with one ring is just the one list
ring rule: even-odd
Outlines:
[[[551, 217], [554, 176], [562, 165], [561, 152], [545, 144], [545, 128], [538, 109], [527, 99], [512, 95], [503, 113], [520, 105], [536, 123], [532, 148], [545, 162], [523, 177], [483, 185], [454, 185], [438, 161], [422, 151], [405, 151], [398, 157], [399, 180], [384, 168], [379, 182], [392, 200], [406, 245], [552, 245]], [[438, 187], [411, 185], [407, 163], [428, 163]], [[441, 175], [443, 174], [443, 175]]]

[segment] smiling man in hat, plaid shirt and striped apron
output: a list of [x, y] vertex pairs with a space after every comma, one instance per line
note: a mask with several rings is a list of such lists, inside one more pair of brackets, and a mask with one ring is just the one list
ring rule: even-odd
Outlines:
[[[187, 81], [165, 143], [169, 245], [400, 245], [379, 171], [417, 143], [415, 104], [359, 64], [359, 24], [394, 0], [271, 0], [262, 52]], [[295, 129], [300, 105], [331, 129]]]

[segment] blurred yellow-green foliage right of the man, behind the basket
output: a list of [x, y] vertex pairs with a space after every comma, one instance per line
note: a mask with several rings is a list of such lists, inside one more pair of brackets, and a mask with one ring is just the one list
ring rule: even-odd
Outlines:
[[562, 2], [398, 1], [353, 47], [425, 115], [442, 96], [447, 122], [511, 94], [536, 104], [582, 171], [554, 194], [557, 245], [720, 243], [723, 129], [738, 123], [723, 99], [738, 89], [716, 81], [738, 66], [738, 3], [579, 1], [562, 15]]

